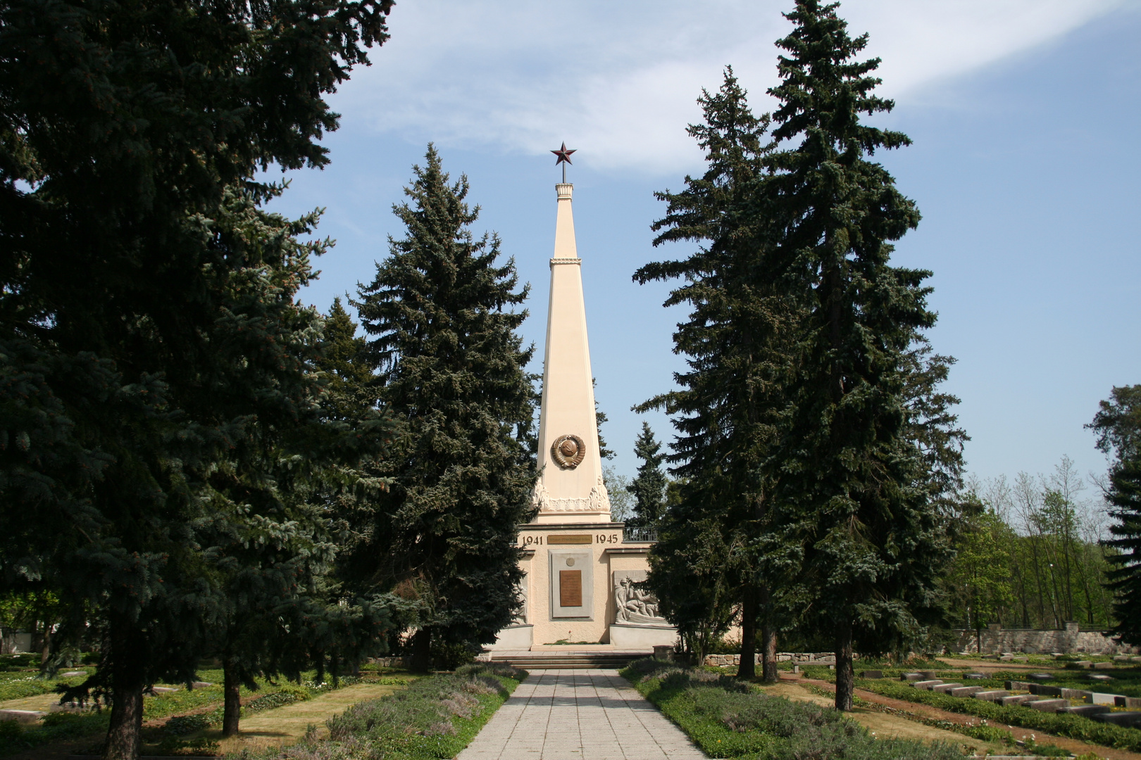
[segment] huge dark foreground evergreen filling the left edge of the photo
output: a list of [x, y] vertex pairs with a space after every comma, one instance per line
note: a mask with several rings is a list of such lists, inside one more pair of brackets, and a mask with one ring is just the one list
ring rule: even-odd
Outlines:
[[293, 295], [323, 246], [244, 237], [243, 209], [269, 164], [327, 162], [324, 96], [390, 5], [0, 7], [0, 571], [58, 594], [56, 638], [103, 637], [108, 760], [229, 603], [209, 479], [313, 406]]

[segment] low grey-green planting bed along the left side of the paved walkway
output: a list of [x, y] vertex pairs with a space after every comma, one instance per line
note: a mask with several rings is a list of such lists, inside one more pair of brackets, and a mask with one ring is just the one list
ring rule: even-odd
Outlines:
[[437, 760], [454, 758], [479, 733], [527, 672], [474, 663], [348, 708], [326, 721], [329, 738], [310, 733], [292, 746], [243, 750], [230, 760]]

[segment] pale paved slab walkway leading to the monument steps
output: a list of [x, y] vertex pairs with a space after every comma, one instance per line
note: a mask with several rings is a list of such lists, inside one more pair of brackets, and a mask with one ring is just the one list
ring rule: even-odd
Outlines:
[[456, 760], [704, 760], [616, 670], [532, 670]]

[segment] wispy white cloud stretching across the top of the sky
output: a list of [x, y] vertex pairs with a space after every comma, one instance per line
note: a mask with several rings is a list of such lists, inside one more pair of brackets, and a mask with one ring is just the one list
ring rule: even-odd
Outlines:
[[[869, 32], [883, 93], [924, 88], [1050, 41], [1128, 0], [866, 0], [841, 7]], [[733, 64], [758, 108], [776, 81], [772, 0], [404, 0], [393, 39], [337, 107], [398, 137], [541, 154], [566, 140], [583, 163], [652, 174], [699, 160], [685, 125], [702, 87]], [[580, 156], [576, 156], [578, 158]]]

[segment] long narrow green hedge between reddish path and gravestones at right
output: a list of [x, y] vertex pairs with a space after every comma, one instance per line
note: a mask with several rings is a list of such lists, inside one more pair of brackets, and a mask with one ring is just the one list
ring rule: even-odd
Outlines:
[[859, 679], [859, 688], [874, 692], [881, 696], [895, 700], [926, 704], [949, 712], [961, 712], [978, 716], [993, 722], [1020, 726], [1034, 730], [1046, 732], [1054, 736], [1065, 736], [1081, 742], [1101, 744], [1117, 750], [1141, 752], [1141, 729], [1125, 728], [1112, 724], [1102, 724], [1082, 716], [1055, 712], [1041, 712], [1020, 705], [1002, 705], [982, 700], [971, 700], [939, 692], [917, 689], [904, 684], [884, 683], [880, 680]]

